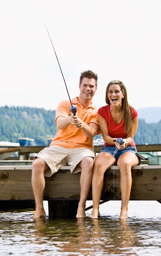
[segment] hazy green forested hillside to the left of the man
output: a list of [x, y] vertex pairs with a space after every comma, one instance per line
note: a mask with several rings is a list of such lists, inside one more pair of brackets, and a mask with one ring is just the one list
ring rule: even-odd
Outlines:
[[20, 137], [34, 139], [35, 145], [47, 145], [54, 137], [55, 111], [44, 108], [0, 107], [0, 140], [18, 142]]

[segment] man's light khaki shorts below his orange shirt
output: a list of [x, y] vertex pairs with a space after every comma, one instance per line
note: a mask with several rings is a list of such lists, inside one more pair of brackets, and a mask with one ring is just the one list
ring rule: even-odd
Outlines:
[[[81, 167], [77, 166], [84, 157], [93, 157], [96, 153], [89, 148], [63, 148], [59, 146], [49, 146], [42, 149], [36, 156], [45, 161], [50, 169], [45, 171], [46, 177], [51, 177], [60, 166], [70, 166], [71, 173], [81, 172]], [[34, 158], [34, 160], [35, 160]]]

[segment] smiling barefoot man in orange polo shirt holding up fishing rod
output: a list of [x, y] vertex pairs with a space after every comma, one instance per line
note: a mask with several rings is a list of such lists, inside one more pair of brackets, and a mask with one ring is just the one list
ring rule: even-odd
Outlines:
[[66, 163], [71, 166], [71, 172], [81, 172], [80, 200], [76, 217], [85, 215], [85, 203], [91, 186], [93, 175], [93, 137], [99, 132], [97, 109], [92, 104], [92, 98], [97, 89], [97, 74], [91, 70], [81, 73], [79, 80], [79, 97], [71, 100], [76, 105], [76, 116], [71, 114], [71, 103], [65, 100], [56, 108], [56, 126], [58, 131], [50, 147], [37, 154], [32, 166], [32, 187], [36, 202], [33, 218], [45, 217], [43, 208], [44, 176], [51, 177], [60, 166]]

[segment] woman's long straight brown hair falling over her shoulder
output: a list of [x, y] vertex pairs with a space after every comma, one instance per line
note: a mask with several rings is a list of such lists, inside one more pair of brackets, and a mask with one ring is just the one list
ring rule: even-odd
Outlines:
[[108, 91], [111, 84], [119, 84], [119, 87], [121, 89], [122, 94], [124, 94], [124, 98], [122, 99], [122, 113], [123, 113], [123, 119], [125, 124], [125, 132], [128, 133], [132, 126], [131, 121], [131, 113], [133, 112], [133, 107], [131, 107], [127, 101], [127, 90], [123, 82], [119, 80], [113, 80], [111, 81], [106, 88], [106, 103], [110, 104], [110, 101], [108, 99]]

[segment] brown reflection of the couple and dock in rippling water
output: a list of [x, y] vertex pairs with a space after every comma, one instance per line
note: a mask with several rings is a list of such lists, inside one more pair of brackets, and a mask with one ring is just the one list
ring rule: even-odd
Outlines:
[[[127, 221], [111, 221], [105, 218], [77, 220], [42, 218], [34, 220], [34, 224], [33, 242], [52, 244], [52, 250], [57, 250], [58, 254], [68, 252], [86, 255], [90, 252], [93, 255], [100, 253], [131, 255], [133, 247], [139, 246], [135, 230], [128, 227]], [[48, 250], [50, 249], [46, 248], [46, 252]], [[42, 253], [42, 250], [39, 250], [40, 252]]]

